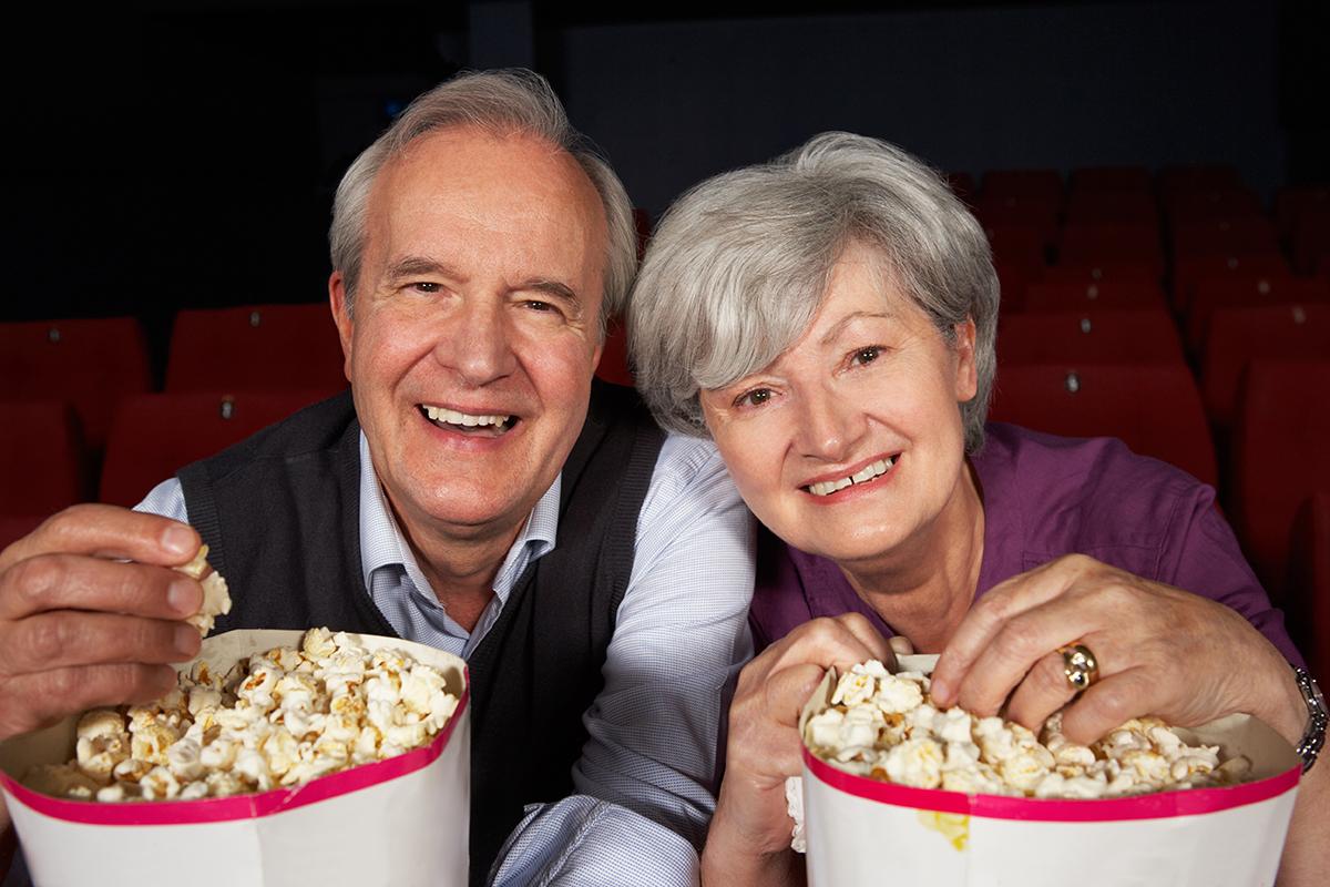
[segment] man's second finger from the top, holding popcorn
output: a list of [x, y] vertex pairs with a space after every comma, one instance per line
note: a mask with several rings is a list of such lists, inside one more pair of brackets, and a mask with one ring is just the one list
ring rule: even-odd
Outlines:
[[0, 574], [0, 620], [59, 609], [178, 620], [202, 601], [198, 581], [178, 570], [78, 555], [29, 557]]

